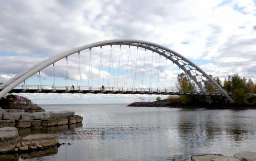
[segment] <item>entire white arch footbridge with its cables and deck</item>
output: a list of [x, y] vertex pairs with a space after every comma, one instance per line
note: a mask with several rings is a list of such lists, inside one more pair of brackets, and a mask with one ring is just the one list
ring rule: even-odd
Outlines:
[[[106, 52], [102, 52], [103, 46], [108, 46], [110, 48], [110, 54], [105, 54]], [[114, 50], [114, 46], [119, 47], [119, 50]], [[126, 52], [128, 57], [123, 55], [125, 53], [124, 49], [122, 49], [123, 46], [128, 47], [128, 51]], [[131, 52], [132, 47], [136, 50], [134, 55]], [[89, 49], [87, 50], [88, 54], [80, 54], [81, 51], [85, 52], [84, 50], [86, 49]], [[95, 51], [99, 49], [97, 54], [91, 53], [91, 51], [94, 49]], [[148, 54], [148, 51], [151, 51], [152, 54]], [[141, 54], [140, 52], [144, 52], [144, 54]], [[78, 53], [78, 59], [76, 59], [76, 61], [69, 59], [69, 57], [74, 56], [75, 53]], [[82, 57], [81, 55], [85, 56]], [[160, 57], [157, 57], [156, 55], [159, 55]], [[103, 58], [104, 56], [107, 58]], [[106, 60], [109, 61], [109, 64], [106, 63]], [[60, 70], [63, 69], [62, 71], [57, 72], [57, 74], [59, 74], [57, 76], [55, 69], [56, 62], [57, 66], [61, 66]], [[86, 68], [82, 67], [83, 62], [87, 63]], [[99, 63], [93, 66], [95, 62]], [[170, 62], [171, 64], [169, 64], [167, 68], [167, 64]], [[53, 65], [52, 74], [49, 72], [49, 67], [51, 65]], [[170, 81], [172, 78], [177, 78], [177, 76], [174, 76], [173, 72], [173, 70], [177, 70], [176, 68], [178, 68], [179, 72], [180, 69], [182, 69], [185, 75], [193, 80], [196, 85], [196, 89], [198, 90], [180, 91], [177, 89], [170, 89], [177, 86], [174, 84], [174, 81]], [[74, 72], [75, 69], [78, 70]], [[88, 74], [83, 74], [84, 76], [82, 77], [81, 71], [87, 72], [88, 69]], [[72, 70], [71, 74], [68, 72], [69, 70]], [[77, 79], [75, 78], [76, 76], [74, 76], [74, 73], [77, 73]], [[120, 73], [123, 73], [123, 75], [120, 75]], [[131, 73], [131, 76], [128, 76], [128, 73]], [[72, 74], [73, 76], [70, 76]], [[148, 77], [146, 77], [146, 75], [148, 75]], [[29, 78], [32, 79], [33, 76], [37, 76], [39, 78], [39, 84], [36, 86], [25, 85], [25, 81], [27, 81]], [[138, 80], [139, 76], [141, 80]], [[42, 85], [42, 77], [52, 77], [53, 85]], [[56, 80], [57, 77], [65, 77], [65, 86], [56, 85], [56, 83], [61, 82]], [[98, 78], [98, 81], [95, 81], [95, 77]], [[106, 82], [104, 78], [108, 80], [108, 85], [106, 85], [106, 90], [102, 91], [99, 87], [99, 83], [100, 81], [103, 81], [101, 84], [105, 84]], [[87, 87], [82, 85], [82, 81], [84, 80], [87, 80]], [[164, 83], [161, 83], [161, 80]], [[77, 81], [76, 87], [79, 87], [79, 89], [68, 89], [67, 87], [70, 87], [69, 81]], [[153, 83], [154, 81], [155, 83]], [[22, 84], [23, 82], [24, 84]], [[97, 83], [98, 87], [95, 87], [93, 84]], [[204, 83], [210, 83], [213, 85], [215, 92], [208, 92], [208, 89], [204, 86]], [[51, 58], [31, 66], [29, 69], [22, 71], [21, 73], [12, 77], [10, 80], [6, 81], [4, 84], [0, 85], [0, 97], [4, 96], [8, 92], [206, 95], [208, 101], [210, 102], [211, 99], [208, 96], [222, 95], [226, 97], [227, 100], [232, 102], [229, 95], [210, 76], [208, 76], [208, 74], [206, 74], [202, 69], [181, 54], [178, 54], [177, 52], [156, 43], [133, 39], [114, 39], [95, 42], [65, 51], [58, 55], [54, 55]]]

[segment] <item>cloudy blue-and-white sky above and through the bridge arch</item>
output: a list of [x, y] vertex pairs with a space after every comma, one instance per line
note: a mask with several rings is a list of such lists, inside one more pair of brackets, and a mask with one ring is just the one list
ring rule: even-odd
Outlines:
[[[228, 74], [239, 74], [256, 81], [256, 0], [176, 0], [176, 1], [0, 1], [0, 82], [5, 82], [30, 66], [63, 51], [88, 43], [108, 39], [139, 39], [158, 43], [184, 55], [206, 73], [222, 80]], [[128, 48], [122, 47], [127, 57]], [[136, 47], [132, 48], [130, 64], [136, 62]], [[94, 84], [103, 84], [110, 74], [117, 75], [120, 49], [113, 47], [113, 71], [108, 71], [109, 47], [102, 48], [103, 70], [98, 76], [100, 49], [92, 51], [94, 65], [91, 77]], [[144, 50], [139, 49], [143, 57]], [[81, 82], [88, 85], [90, 52], [81, 51]], [[144, 54], [144, 55], [143, 55]], [[152, 55], [152, 53], [149, 53]], [[159, 73], [162, 83], [159, 87], [174, 87], [175, 74], [180, 71], [171, 62], [157, 65], [159, 57], [154, 57], [153, 86], [157, 86]], [[126, 59], [127, 60], [127, 59]], [[138, 60], [138, 59], [137, 59]], [[142, 87], [140, 74], [150, 67], [149, 59], [138, 69], [136, 87]], [[164, 58], [160, 58], [165, 62]], [[65, 85], [65, 60], [56, 62], [56, 84]], [[78, 55], [69, 57], [69, 84], [77, 84]], [[127, 70], [131, 70], [124, 62]], [[138, 64], [139, 66], [139, 64]], [[140, 66], [141, 67], [141, 64]], [[139, 68], [138, 67], [138, 68]], [[173, 68], [173, 69], [172, 69]], [[146, 70], [147, 69], [147, 70]], [[53, 67], [42, 70], [42, 85], [52, 85]], [[160, 72], [159, 72], [160, 71]], [[121, 72], [121, 71], [120, 71]], [[123, 72], [123, 71], [122, 71]], [[125, 72], [125, 71], [124, 71]], [[131, 76], [128, 72], [132, 85]], [[165, 75], [166, 74], [166, 75]], [[125, 75], [125, 74], [124, 74]], [[38, 85], [39, 75], [29, 78], [28, 84]], [[118, 77], [120, 80], [123, 76]], [[144, 86], [149, 84], [149, 75], [144, 78]], [[116, 76], [117, 79], [117, 76]], [[167, 81], [163, 85], [164, 80]], [[120, 81], [120, 84], [125, 84]], [[89, 83], [91, 85], [91, 83]], [[106, 84], [106, 82], [105, 82]], [[104, 84], [104, 85], [105, 85]], [[145, 85], [146, 84], [146, 85]], [[120, 85], [120, 87], [122, 86]], [[139, 101], [141, 95], [113, 94], [43, 94], [22, 93], [38, 104], [59, 103], [131, 103]], [[146, 101], [155, 100], [156, 95], [143, 95]], [[166, 96], [161, 96], [165, 98]]]

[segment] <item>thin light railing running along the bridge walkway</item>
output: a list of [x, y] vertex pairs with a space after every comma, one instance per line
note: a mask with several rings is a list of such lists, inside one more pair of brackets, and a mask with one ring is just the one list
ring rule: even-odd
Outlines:
[[162, 93], [162, 92], [172, 92], [172, 93], [184, 93], [184, 94], [193, 94], [193, 93], [220, 93], [220, 92], [203, 92], [203, 91], [196, 91], [196, 90], [177, 90], [177, 89], [172, 89], [172, 88], [133, 88], [133, 87], [87, 87], [87, 86], [79, 86], [79, 87], [74, 87], [72, 88], [72, 86], [61, 86], [61, 85], [18, 85], [17, 87], [15, 87], [14, 89], [30, 89], [30, 90], [67, 90], [67, 91], [71, 91], [71, 90], [78, 90], [78, 91], [112, 91], [112, 92], [116, 92], [116, 91], [125, 91], [125, 92], [152, 92], [152, 93]]

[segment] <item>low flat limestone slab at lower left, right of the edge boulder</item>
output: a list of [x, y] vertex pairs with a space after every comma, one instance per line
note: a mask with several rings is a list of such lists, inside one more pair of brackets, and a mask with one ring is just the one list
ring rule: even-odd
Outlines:
[[58, 134], [36, 134], [36, 135], [28, 135], [25, 138], [21, 139], [21, 144], [27, 146], [53, 146], [56, 145], [58, 139]]

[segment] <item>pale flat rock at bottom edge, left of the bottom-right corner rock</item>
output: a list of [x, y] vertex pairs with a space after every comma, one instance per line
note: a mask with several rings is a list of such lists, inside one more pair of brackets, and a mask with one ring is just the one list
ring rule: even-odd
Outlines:
[[227, 157], [221, 154], [206, 154], [200, 156], [192, 156], [191, 161], [240, 161], [235, 157]]

